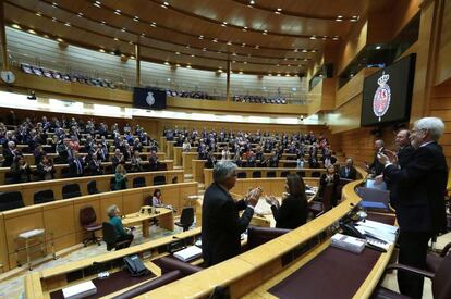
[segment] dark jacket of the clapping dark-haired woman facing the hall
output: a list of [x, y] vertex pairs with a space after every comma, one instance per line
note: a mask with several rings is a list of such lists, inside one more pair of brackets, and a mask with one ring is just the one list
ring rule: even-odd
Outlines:
[[294, 229], [307, 222], [307, 200], [289, 196], [279, 209], [271, 205], [272, 215], [276, 220], [276, 227]]

